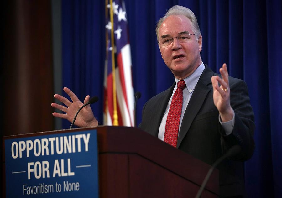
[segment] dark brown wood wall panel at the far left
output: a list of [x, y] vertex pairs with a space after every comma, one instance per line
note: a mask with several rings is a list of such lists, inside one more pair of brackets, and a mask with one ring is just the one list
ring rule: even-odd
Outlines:
[[50, 0], [6, 2], [3, 19], [3, 133], [53, 130]]

